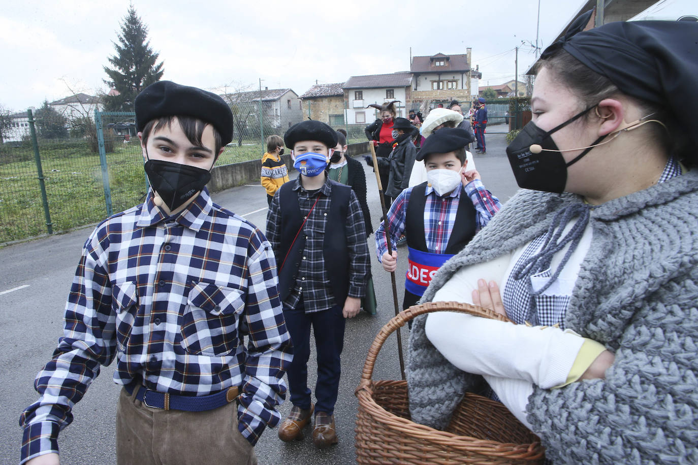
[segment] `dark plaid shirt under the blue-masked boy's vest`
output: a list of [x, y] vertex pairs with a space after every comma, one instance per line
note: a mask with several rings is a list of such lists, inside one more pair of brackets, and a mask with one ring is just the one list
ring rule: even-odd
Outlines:
[[[322, 252], [329, 201], [332, 195], [332, 184], [329, 178], [325, 178], [325, 183], [322, 184], [319, 190], [308, 192], [303, 188], [299, 180], [300, 176], [291, 182], [294, 183], [293, 190], [298, 192], [298, 204], [304, 219], [308, 216], [313, 204], [315, 204], [315, 200], [318, 200], [318, 203], [315, 204], [315, 208], [313, 208], [310, 217], [304, 224], [301, 234], [305, 234], [306, 243], [302, 261], [298, 268], [295, 287], [283, 301], [283, 305], [284, 308], [295, 308], [302, 297], [306, 313], [320, 312], [334, 305], [344, 305], [343, 302], [336, 302], [332, 295], [327, 266], [325, 266], [325, 257]], [[318, 199], [318, 195], [320, 199]], [[366, 245], [363, 213], [353, 190], [350, 191], [349, 211], [344, 228], [349, 249], [348, 296], [361, 298], [364, 296], [366, 275], [369, 273], [369, 248]], [[293, 236], [295, 234], [294, 232]], [[278, 193], [274, 196], [272, 206], [269, 208], [267, 238], [272, 243], [274, 250], [278, 251], [281, 247], [281, 211]], [[328, 238], [328, 240], [331, 240], [331, 238]], [[279, 260], [283, 260], [283, 257], [279, 257]], [[327, 263], [329, 266], [332, 266], [331, 260]]]

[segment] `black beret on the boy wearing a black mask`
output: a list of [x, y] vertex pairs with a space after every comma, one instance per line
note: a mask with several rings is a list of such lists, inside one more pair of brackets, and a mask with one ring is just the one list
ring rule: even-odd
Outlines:
[[150, 84], [135, 98], [135, 129], [162, 116], [191, 116], [212, 125], [223, 145], [232, 141], [232, 111], [220, 96], [172, 81]]

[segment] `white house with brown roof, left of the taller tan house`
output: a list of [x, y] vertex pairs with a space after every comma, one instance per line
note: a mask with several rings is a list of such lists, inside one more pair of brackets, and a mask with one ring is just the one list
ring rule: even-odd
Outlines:
[[366, 108], [371, 103], [383, 105], [392, 100], [396, 104], [397, 116], [406, 117], [405, 105], [410, 98], [412, 74], [406, 71], [387, 75], [352, 76], [344, 83], [344, 99], [348, 103], [347, 119], [349, 124], [368, 124], [378, 117], [378, 110]]

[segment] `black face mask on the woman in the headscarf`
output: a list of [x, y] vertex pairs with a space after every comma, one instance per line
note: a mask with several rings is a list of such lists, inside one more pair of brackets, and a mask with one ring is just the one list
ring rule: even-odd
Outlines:
[[[567, 167], [581, 160], [584, 155], [589, 153], [593, 146], [601, 142], [606, 136], [601, 136], [586, 147], [582, 153], [577, 155], [574, 160], [565, 162], [560, 149], [550, 137], [554, 132], [564, 128], [593, 107], [589, 107], [580, 112], [564, 123], [556, 126], [548, 132], [539, 128], [533, 121], [523, 126], [516, 139], [507, 146], [507, 157], [509, 164], [514, 171], [514, 177], [517, 179], [517, 184], [523, 189], [542, 190], [543, 192], [554, 192], [560, 194], [564, 192], [567, 184]], [[540, 148], [538, 153], [533, 153]]]

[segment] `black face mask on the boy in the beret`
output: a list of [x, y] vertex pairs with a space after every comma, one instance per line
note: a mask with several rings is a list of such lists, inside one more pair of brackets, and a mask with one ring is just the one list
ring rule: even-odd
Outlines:
[[148, 160], [144, 168], [151, 187], [170, 211], [194, 197], [211, 180], [207, 169], [163, 160]]

